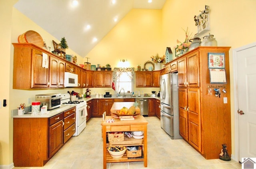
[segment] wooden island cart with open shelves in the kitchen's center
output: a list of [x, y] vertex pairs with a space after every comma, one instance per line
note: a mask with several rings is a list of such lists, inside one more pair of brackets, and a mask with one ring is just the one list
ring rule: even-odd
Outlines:
[[[111, 116], [106, 116], [105, 121], [102, 121], [102, 137], [103, 137], [103, 169], [106, 169], [107, 163], [115, 162], [129, 162], [129, 161], [144, 161], [144, 167], [148, 166], [148, 154], [147, 154], [147, 124], [148, 121], [142, 116], [138, 115], [134, 120], [114, 119], [114, 122], [108, 123], [108, 119], [113, 119]], [[110, 145], [107, 143], [108, 132], [126, 132], [126, 131], [143, 131], [144, 138], [141, 144], [131, 143], [131, 141], [120, 141], [120, 144]], [[132, 139], [132, 138], [131, 138]], [[120, 159], [113, 159], [107, 151], [107, 147], [116, 146], [142, 146], [141, 158], [128, 158], [126, 154]]]

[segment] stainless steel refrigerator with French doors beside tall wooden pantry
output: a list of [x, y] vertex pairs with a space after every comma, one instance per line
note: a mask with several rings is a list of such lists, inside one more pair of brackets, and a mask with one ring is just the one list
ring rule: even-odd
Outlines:
[[179, 134], [179, 98], [178, 75], [160, 76], [160, 112], [161, 128], [171, 139], [182, 139]]

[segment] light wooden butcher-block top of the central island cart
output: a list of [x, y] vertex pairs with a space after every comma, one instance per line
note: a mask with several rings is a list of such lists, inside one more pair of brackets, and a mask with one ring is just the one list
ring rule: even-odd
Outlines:
[[112, 116], [106, 116], [106, 119], [101, 122], [101, 125], [136, 125], [136, 124], [148, 124], [148, 121], [143, 117], [143, 115], [137, 115], [134, 120], [123, 120], [114, 119], [112, 123], [107, 123], [106, 120], [114, 119]]

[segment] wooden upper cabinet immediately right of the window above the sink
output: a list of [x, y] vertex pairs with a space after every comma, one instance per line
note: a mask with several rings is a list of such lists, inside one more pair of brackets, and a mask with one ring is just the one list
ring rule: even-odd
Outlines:
[[152, 87], [152, 71], [136, 71], [136, 87]]

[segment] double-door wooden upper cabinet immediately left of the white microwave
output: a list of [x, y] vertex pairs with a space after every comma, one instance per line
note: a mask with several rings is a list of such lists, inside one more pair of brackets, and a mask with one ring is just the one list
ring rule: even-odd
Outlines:
[[50, 56], [49, 63], [49, 87], [64, 87], [65, 62]]

